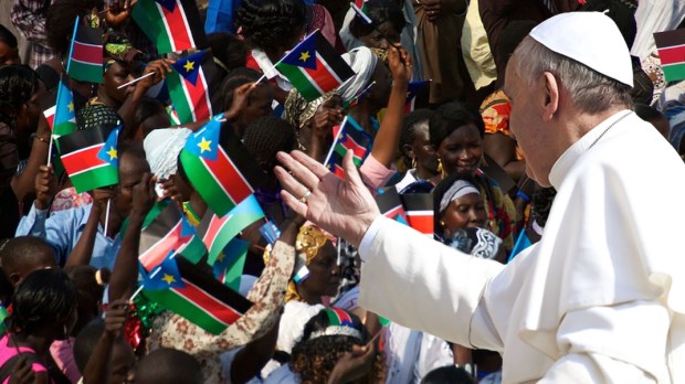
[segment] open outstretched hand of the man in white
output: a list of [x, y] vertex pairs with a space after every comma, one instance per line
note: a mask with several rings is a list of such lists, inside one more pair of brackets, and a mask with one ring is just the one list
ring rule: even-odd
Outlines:
[[285, 203], [314, 224], [359, 246], [380, 212], [359, 177], [351, 151], [342, 160], [345, 180], [301, 151], [280, 152], [276, 158], [285, 167], [274, 170], [284, 186], [281, 196]]

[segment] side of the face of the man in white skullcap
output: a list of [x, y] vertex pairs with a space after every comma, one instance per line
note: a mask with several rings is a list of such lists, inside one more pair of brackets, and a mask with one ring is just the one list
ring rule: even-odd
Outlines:
[[509, 60], [504, 85], [504, 92], [512, 103], [509, 130], [526, 156], [528, 177], [540, 185], [549, 186], [549, 171], [556, 159], [549, 150], [554, 129], [542, 121], [545, 79], [540, 76], [530, 86], [516, 73], [515, 65], [516, 55]]

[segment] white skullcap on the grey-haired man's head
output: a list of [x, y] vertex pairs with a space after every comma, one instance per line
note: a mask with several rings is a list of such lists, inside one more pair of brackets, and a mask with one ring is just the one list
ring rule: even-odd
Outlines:
[[601, 12], [569, 12], [550, 18], [530, 31], [549, 50], [633, 86], [633, 66], [616, 24]]

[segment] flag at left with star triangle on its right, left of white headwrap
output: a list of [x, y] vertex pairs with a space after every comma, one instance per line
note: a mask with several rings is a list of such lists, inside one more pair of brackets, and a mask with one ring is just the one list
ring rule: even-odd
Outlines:
[[119, 127], [97, 126], [57, 139], [62, 163], [76, 192], [119, 182]]

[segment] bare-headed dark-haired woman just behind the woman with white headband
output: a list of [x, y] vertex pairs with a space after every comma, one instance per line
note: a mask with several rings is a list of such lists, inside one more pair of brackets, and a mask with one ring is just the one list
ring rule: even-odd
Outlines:
[[438, 151], [442, 178], [451, 174], [473, 178], [485, 201], [485, 227], [504, 241], [509, 253], [514, 246], [514, 204], [497, 183], [479, 170], [483, 161], [483, 119], [461, 103], [449, 103], [438, 108], [431, 117], [430, 137]]

